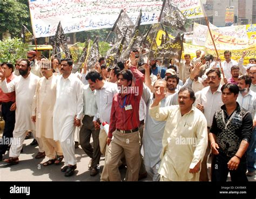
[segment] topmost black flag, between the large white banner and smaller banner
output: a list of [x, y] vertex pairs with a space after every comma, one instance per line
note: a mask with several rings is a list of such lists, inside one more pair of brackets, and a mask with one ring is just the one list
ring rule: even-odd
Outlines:
[[164, 0], [163, 2], [159, 22], [166, 26], [170, 26], [184, 32], [186, 31], [184, 28], [186, 17], [176, 6], [172, 5], [169, 0]]

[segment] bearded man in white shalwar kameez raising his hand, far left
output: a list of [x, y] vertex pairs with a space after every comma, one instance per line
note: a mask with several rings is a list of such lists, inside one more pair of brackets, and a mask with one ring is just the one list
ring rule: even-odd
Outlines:
[[[19, 73], [21, 74], [10, 83], [6, 82], [4, 70], [0, 70], [0, 77], [2, 79], [2, 91], [4, 93], [16, 92], [16, 122], [14, 128], [14, 140], [12, 142], [9, 159], [4, 162], [10, 164], [17, 164], [19, 162], [19, 154], [22, 150], [22, 145], [25, 140], [26, 131], [35, 130], [35, 123], [31, 120], [31, 106], [33, 95], [35, 94], [36, 84], [39, 77], [30, 72], [30, 61], [22, 59], [19, 63]], [[32, 131], [34, 133], [34, 131]], [[34, 133], [34, 138], [36, 134]], [[39, 144], [39, 153], [43, 154], [42, 145]], [[41, 151], [40, 151], [41, 150]], [[40, 155], [40, 154], [39, 154]]]

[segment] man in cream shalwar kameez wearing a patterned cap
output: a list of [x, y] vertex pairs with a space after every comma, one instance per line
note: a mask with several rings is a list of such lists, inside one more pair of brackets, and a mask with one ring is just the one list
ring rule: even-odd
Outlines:
[[53, 76], [51, 64], [41, 60], [44, 77], [40, 78], [32, 104], [32, 121], [36, 122], [36, 136], [43, 142], [45, 154], [49, 160], [43, 166], [59, 164], [63, 159], [62, 149], [58, 141], [53, 140], [53, 107], [56, 101], [57, 77]]

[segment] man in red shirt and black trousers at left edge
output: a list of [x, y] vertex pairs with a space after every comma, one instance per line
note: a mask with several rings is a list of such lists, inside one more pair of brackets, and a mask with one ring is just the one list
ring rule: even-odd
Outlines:
[[[12, 73], [14, 71], [14, 65], [11, 63], [3, 63], [1, 67], [5, 71], [7, 83], [16, 77], [15, 74]], [[15, 126], [15, 91], [11, 93], [4, 93], [0, 88], [0, 102], [2, 104], [2, 116], [5, 122], [3, 139], [0, 143], [0, 160], [2, 160], [8, 145], [11, 144], [10, 141]]]

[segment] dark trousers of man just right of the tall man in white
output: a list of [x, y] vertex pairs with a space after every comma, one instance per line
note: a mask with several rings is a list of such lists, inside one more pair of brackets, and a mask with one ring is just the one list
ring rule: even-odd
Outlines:
[[[93, 117], [84, 115], [83, 126], [79, 132], [79, 143], [84, 152], [91, 157], [92, 168], [97, 168], [100, 159], [100, 148], [99, 148], [99, 129], [96, 130], [93, 123]], [[91, 146], [90, 139], [93, 139], [93, 147]]]

